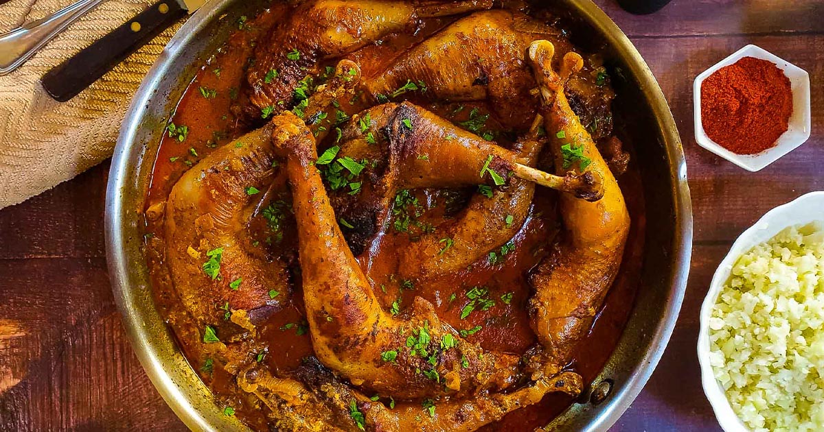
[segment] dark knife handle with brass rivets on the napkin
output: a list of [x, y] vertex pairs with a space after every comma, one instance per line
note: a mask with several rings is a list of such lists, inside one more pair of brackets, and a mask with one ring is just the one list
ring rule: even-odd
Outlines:
[[176, 0], [156, 2], [43, 76], [43, 88], [60, 102], [72, 99], [186, 14]]

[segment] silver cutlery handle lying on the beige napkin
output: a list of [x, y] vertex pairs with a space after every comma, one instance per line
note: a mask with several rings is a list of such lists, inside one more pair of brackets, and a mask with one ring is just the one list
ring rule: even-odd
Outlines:
[[104, 1], [80, 0], [52, 15], [0, 35], [0, 75], [6, 75], [26, 63], [55, 35]]

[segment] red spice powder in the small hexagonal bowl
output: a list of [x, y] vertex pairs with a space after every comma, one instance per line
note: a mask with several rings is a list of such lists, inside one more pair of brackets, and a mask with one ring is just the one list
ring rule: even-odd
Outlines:
[[701, 83], [701, 125], [710, 139], [739, 155], [775, 146], [793, 114], [789, 78], [774, 63], [744, 57]]

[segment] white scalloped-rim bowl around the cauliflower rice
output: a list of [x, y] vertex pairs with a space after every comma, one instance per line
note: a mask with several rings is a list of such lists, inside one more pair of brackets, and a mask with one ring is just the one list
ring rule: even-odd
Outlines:
[[744, 231], [735, 240], [733, 248], [715, 271], [709, 292], [701, 305], [701, 330], [698, 335], [698, 362], [701, 365], [701, 384], [704, 393], [713, 406], [715, 417], [726, 432], [745, 432], [747, 427], [733, 412], [721, 384], [715, 379], [713, 368], [709, 365], [709, 318], [719, 291], [729, 278], [733, 264], [756, 244], [763, 243], [791, 225], [807, 224], [812, 221], [824, 221], [824, 191], [811, 192], [796, 198], [793, 202], [775, 207], [759, 219], [755, 225]]

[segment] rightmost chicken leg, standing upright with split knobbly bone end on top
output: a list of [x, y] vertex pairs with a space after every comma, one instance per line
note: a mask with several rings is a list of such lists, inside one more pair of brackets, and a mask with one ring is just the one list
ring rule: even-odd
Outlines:
[[541, 113], [555, 171], [559, 175], [596, 172], [604, 187], [598, 202], [561, 194], [562, 240], [531, 276], [535, 288], [530, 300], [532, 328], [550, 363], [564, 365], [615, 279], [630, 230], [630, 215], [618, 182], [564, 95], [564, 80], [583, 61], [578, 54], [567, 53], [558, 74], [551, 67], [553, 53], [553, 45], [545, 40], [536, 41], [529, 49], [541, 85]]

